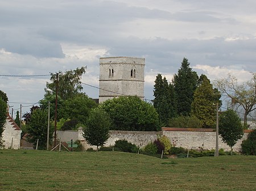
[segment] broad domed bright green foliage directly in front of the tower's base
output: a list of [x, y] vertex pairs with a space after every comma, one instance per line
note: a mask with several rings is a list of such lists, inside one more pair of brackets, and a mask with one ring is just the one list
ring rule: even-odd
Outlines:
[[111, 130], [160, 130], [155, 108], [137, 96], [121, 96], [106, 100], [100, 108], [109, 113], [113, 124]]

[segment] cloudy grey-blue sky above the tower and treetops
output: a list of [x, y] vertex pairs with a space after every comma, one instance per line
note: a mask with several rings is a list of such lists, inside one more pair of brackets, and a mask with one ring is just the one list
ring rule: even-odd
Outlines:
[[[87, 66], [82, 82], [98, 87], [99, 58], [146, 58], [146, 99], [155, 76], [171, 80], [183, 57], [213, 81], [256, 71], [254, 0], [0, 0], [0, 90], [23, 112], [44, 96], [44, 75]], [[97, 98], [98, 89], [84, 86]]]

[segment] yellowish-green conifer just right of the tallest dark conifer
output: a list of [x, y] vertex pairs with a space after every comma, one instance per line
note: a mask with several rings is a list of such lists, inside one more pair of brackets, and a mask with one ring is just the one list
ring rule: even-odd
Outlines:
[[191, 116], [200, 120], [201, 127], [213, 128], [216, 124], [216, 108], [213, 105], [218, 102], [220, 107], [220, 97], [220, 92], [216, 92], [207, 76], [202, 74], [191, 104]]

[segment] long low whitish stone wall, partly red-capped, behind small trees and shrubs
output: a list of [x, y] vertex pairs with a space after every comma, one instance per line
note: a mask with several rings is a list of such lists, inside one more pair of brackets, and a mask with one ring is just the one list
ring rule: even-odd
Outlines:
[[[245, 130], [243, 138], [238, 140], [234, 145], [234, 151], [241, 151], [241, 143], [243, 139], [247, 138], [250, 130]], [[189, 149], [204, 149], [210, 150], [216, 147], [216, 132], [214, 129], [190, 129], [190, 128], [162, 128], [162, 131], [110, 131], [110, 138], [106, 142], [105, 146], [113, 146], [115, 141], [119, 139], [126, 139], [139, 147], [144, 147], [147, 143], [154, 141], [158, 137], [165, 135], [168, 137], [172, 145], [176, 147], [184, 147]], [[63, 136], [63, 137], [61, 137]], [[78, 131], [58, 131], [57, 137], [61, 138], [61, 141], [76, 141], [79, 139], [85, 149], [96, 148], [86, 143], [84, 137], [82, 137], [82, 128]], [[228, 145], [222, 142], [221, 137], [218, 138], [219, 148], [223, 148], [225, 151], [229, 151]]]

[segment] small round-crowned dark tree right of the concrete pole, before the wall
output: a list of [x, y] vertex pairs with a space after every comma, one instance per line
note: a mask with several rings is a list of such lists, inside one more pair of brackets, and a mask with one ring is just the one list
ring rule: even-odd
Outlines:
[[226, 143], [231, 151], [238, 139], [243, 137], [243, 126], [237, 113], [231, 109], [220, 114], [218, 134], [221, 135], [222, 141]]

